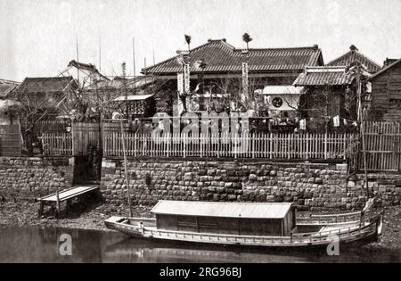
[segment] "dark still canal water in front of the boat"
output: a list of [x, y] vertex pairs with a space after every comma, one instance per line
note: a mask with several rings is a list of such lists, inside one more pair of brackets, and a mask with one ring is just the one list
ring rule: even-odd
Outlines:
[[[71, 237], [71, 255], [61, 255]], [[340, 249], [325, 251], [266, 251], [151, 242], [117, 232], [41, 227], [0, 227], [0, 262], [401, 262], [399, 251]]]

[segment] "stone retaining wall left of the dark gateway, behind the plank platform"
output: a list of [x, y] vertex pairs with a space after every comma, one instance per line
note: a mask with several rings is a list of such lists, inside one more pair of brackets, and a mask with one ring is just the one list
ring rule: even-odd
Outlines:
[[72, 186], [74, 158], [0, 157], [0, 194], [37, 196]]

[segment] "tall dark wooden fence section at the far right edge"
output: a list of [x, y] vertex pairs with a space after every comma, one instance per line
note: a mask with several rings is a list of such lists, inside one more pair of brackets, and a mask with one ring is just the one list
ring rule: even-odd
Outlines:
[[[371, 171], [400, 171], [401, 123], [368, 121], [364, 124], [366, 168]], [[360, 169], [364, 169], [361, 161]]]

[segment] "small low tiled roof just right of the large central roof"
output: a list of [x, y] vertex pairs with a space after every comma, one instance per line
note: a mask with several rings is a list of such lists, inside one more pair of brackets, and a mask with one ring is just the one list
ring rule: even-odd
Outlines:
[[299, 74], [292, 85], [294, 86], [324, 86], [348, 85], [351, 81], [340, 66], [307, 67]]

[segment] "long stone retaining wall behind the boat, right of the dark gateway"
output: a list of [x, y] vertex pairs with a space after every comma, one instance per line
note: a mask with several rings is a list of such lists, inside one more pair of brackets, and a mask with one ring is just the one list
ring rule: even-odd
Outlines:
[[[123, 161], [103, 159], [102, 194], [107, 201], [127, 202], [124, 174]], [[346, 164], [131, 159], [128, 174], [134, 204], [152, 205], [160, 199], [294, 202], [300, 210], [321, 211], [352, 210], [365, 201], [360, 182], [348, 184]], [[397, 198], [399, 202], [399, 194]]]

